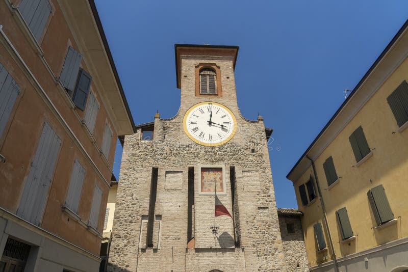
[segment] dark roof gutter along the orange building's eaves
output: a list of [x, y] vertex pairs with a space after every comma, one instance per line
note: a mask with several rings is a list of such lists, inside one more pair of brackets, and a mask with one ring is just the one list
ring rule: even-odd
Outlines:
[[100, 18], [99, 18], [99, 14], [95, 6], [95, 2], [93, 0], [88, 0], [88, 2], [89, 2], [89, 5], [91, 6], [93, 18], [95, 19], [96, 25], [98, 27], [100, 38], [102, 42], [104, 43], [106, 55], [108, 55], [109, 63], [111, 64], [111, 68], [112, 68], [113, 74], [116, 79], [116, 84], [118, 85], [118, 88], [119, 88], [120, 96], [122, 97], [124, 107], [126, 108], [127, 116], [129, 117], [129, 120], [131, 122], [133, 132], [136, 133], [135, 122], [133, 121], [133, 117], [132, 117], [132, 113], [129, 108], [129, 104], [127, 104], [127, 100], [126, 100], [126, 96], [124, 95], [122, 83], [120, 82], [119, 74], [118, 74], [118, 71], [116, 70], [116, 66], [115, 66], [115, 62], [113, 61], [111, 49], [109, 48], [109, 44], [106, 39], [102, 23], [100, 22]]

